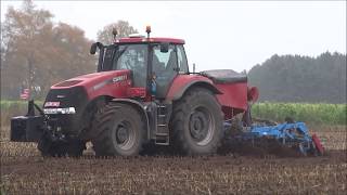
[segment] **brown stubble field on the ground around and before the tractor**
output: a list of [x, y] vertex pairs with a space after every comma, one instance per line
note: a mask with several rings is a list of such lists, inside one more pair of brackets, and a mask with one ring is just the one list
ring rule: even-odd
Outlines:
[[[346, 127], [314, 128], [321, 157], [42, 158], [1, 133], [2, 194], [346, 194]], [[0, 193], [0, 194], [1, 194]]]

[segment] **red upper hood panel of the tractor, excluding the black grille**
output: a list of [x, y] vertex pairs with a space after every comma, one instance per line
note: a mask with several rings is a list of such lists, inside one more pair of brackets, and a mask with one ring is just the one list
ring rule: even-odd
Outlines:
[[[81, 75], [52, 86], [51, 90], [82, 87], [89, 99], [98, 95], [111, 95], [117, 98], [120, 95], [119, 90], [131, 84], [130, 70], [121, 69]], [[114, 92], [116, 92], [116, 94], [113, 94]]]

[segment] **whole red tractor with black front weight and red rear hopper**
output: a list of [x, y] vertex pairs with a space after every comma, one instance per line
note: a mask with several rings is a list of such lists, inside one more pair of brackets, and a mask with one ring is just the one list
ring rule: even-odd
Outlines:
[[[170, 145], [185, 155], [215, 153], [223, 122], [258, 98], [233, 70], [190, 73], [184, 41], [130, 36], [99, 49], [98, 73], [51, 87], [43, 108], [12, 118], [11, 140], [38, 142], [43, 156], [79, 156], [91, 142], [98, 156], [138, 155], [144, 145]], [[35, 107], [40, 115], [35, 115]]]

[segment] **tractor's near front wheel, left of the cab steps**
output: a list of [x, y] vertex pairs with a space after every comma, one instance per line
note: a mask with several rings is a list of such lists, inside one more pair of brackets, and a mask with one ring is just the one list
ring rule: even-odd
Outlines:
[[92, 138], [97, 156], [134, 156], [142, 148], [145, 126], [138, 110], [120, 103], [108, 103], [97, 113]]

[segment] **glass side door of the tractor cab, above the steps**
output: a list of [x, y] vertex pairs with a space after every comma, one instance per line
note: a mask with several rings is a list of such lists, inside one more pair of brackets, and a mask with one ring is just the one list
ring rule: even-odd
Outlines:
[[160, 52], [159, 46], [153, 47], [152, 75], [156, 77], [156, 98], [165, 99], [168, 89], [178, 74], [176, 46], [170, 44], [168, 52]]

